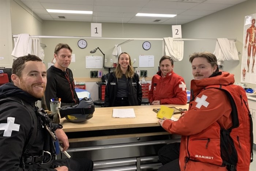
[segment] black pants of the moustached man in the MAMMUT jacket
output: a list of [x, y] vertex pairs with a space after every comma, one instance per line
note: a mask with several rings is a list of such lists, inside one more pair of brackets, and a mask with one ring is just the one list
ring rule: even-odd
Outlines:
[[163, 164], [158, 171], [180, 171], [180, 143], [166, 144], [158, 151], [158, 157]]

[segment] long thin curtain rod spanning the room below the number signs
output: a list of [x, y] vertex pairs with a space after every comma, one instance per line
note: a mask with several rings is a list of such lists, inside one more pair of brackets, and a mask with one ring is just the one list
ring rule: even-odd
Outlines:
[[[17, 37], [18, 35], [12, 35]], [[114, 39], [114, 40], [163, 40], [163, 38], [129, 38], [129, 37], [83, 37], [83, 36], [31, 36], [39, 38], [68, 38], [68, 39]], [[217, 40], [217, 39], [174, 39], [174, 40]], [[236, 39], [228, 39], [236, 41]]]

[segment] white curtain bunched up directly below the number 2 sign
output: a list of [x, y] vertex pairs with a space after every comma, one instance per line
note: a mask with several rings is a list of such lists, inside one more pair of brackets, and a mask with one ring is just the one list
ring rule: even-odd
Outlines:
[[163, 38], [163, 55], [170, 56], [174, 61], [183, 59], [184, 41], [173, 40], [172, 37]]

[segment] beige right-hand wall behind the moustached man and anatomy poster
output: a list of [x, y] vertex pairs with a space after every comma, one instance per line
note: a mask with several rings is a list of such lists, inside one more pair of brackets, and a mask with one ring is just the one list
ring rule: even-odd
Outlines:
[[[248, 0], [182, 25], [182, 36], [185, 38], [202, 39], [222, 37], [237, 39], [237, 50], [242, 53], [244, 17], [253, 13], [256, 13], [256, 1]], [[188, 61], [189, 55], [193, 52], [214, 52], [215, 44], [216, 41], [185, 41], [184, 59], [181, 63], [177, 63], [176, 68], [183, 68], [182, 70], [178, 70], [177, 73], [184, 77], [188, 89], [190, 88], [190, 80], [193, 79], [191, 64]], [[223, 71], [233, 73], [236, 82], [240, 82], [241, 77], [242, 55], [238, 56], [239, 61], [225, 61], [224, 67], [222, 68]], [[255, 88], [256, 85], [248, 84], [248, 87]]]

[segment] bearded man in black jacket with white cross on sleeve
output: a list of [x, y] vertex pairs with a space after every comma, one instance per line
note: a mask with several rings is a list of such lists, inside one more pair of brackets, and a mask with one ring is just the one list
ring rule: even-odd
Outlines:
[[55, 160], [59, 143], [54, 146], [53, 139], [63, 142], [63, 151], [69, 143], [62, 126], [35, 106], [46, 86], [42, 60], [30, 54], [19, 57], [12, 71], [13, 84], [0, 86], [0, 170], [92, 171], [91, 160]]

